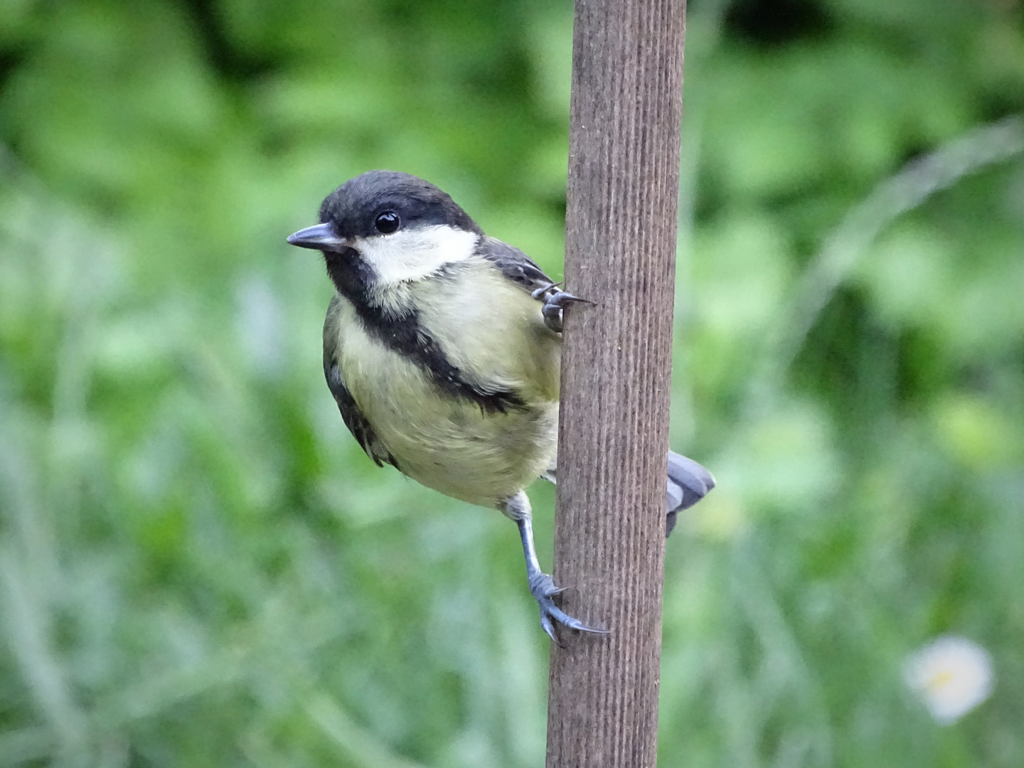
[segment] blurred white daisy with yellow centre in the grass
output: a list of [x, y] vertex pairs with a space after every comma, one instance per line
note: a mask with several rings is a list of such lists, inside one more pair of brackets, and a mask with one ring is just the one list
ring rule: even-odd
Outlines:
[[967, 638], [940, 637], [907, 657], [903, 680], [935, 722], [951, 725], [992, 692], [992, 660]]

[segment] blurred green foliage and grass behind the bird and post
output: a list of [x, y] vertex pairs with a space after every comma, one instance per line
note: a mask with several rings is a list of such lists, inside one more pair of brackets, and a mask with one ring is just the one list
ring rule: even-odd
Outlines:
[[[541, 764], [514, 527], [349, 438], [284, 239], [401, 169], [560, 273], [570, 48], [564, 0], [0, 2], [0, 766]], [[720, 486], [660, 764], [1024, 764], [1019, 2], [693, 0], [686, 103]], [[901, 681], [943, 633], [996, 675], [947, 728]]]

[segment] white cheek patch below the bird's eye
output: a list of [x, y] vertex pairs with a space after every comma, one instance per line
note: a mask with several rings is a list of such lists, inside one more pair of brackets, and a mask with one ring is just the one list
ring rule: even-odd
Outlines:
[[374, 268], [379, 285], [390, 286], [421, 280], [445, 264], [465, 261], [473, 255], [479, 237], [435, 224], [358, 238], [353, 245]]

